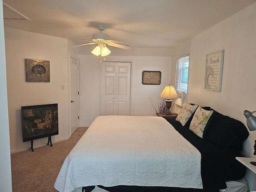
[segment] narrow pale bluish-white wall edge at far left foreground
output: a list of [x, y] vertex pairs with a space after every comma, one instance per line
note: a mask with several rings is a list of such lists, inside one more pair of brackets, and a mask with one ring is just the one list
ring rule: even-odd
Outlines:
[[12, 191], [10, 137], [8, 122], [3, 6], [0, 0], [0, 191]]

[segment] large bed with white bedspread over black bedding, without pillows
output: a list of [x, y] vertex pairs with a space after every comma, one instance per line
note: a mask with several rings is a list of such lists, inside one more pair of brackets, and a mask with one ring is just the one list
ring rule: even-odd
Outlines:
[[98, 116], [65, 159], [54, 187], [110, 192], [216, 192], [244, 177], [241, 154], [199, 138], [175, 118]]

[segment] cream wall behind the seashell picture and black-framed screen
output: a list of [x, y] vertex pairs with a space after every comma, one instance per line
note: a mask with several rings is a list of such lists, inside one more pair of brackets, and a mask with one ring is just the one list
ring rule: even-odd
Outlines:
[[[21, 106], [58, 103], [59, 134], [52, 142], [69, 138], [69, 52], [64, 47], [68, 41], [12, 28], [4, 32], [11, 152], [30, 149], [30, 142], [22, 142]], [[25, 58], [49, 60], [50, 82], [26, 82]], [[34, 140], [34, 148], [47, 141]]]

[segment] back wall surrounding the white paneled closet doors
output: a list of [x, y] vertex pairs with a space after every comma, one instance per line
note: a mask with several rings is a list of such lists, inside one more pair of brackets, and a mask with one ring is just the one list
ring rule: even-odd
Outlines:
[[[106, 60], [131, 61], [131, 113], [136, 116], [156, 116], [149, 97], [159, 98], [170, 84], [171, 57], [108, 56]], [[143, 85], [142, 71], [161, 71], [160, 85]], [[80, 126], [89, 126], [100, 115], [100, 62], [94, 55], [80, 55]]]

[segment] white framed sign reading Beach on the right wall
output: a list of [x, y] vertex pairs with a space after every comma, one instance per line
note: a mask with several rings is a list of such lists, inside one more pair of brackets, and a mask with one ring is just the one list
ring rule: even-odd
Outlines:
[[206, 55], [204, 89], [221, 92], [224, 50]]

